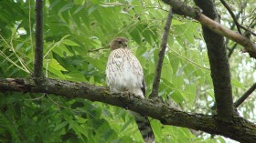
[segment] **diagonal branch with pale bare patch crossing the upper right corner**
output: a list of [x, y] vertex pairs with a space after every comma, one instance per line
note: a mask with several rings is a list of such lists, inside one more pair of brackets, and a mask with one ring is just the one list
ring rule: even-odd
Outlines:
[[[256, 44], [252, 43], [250, 39], [246, 36], [239, 35], [234, 31], [230, 30], [225, 26], [221, 26], [218, 22], [211, 20], [208, 16], [203, 15], [199, 12], [198, 9], [194, 9], [188, 5], [185, 5], [179, 0], [162, 0], [167, 5], [171, 5], [173, 7], [174, 13], [177, 15], [186, 15], [191, 18], [196, 19], [201, 25], [208, 27], [210, 30], [215, 33], [226, 36], [232, 41], [239, 43], [241, 46], [244, 46], [246, 51], [251, 54], [254, 58], [256, 58]], [[205, 10], [204, 10], [205, 12]]]

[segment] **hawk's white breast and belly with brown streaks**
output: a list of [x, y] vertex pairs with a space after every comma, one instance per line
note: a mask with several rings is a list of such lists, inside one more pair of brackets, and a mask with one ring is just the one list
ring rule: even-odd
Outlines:
[[112, 51], [106, 68], [106, 76], [107, 85], [112, 91], [133, 91], [143, 86], [142, 66], [127, 48]]

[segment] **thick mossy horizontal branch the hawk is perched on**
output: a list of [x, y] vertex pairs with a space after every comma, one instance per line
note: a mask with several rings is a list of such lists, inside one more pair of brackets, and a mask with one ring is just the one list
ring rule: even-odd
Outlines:
[[[37, 85], [40, 84], [40, 85]], [[156, 99], [134, 97], [129, 93], [110, 93], [105, 87], [87, 83], [59, 81], [49, 78], [0, 79], [0, 92], [48, 93], [62, 97], [80, 97], [128, 108], [144, 116], [154, 117], [165, 125], [202, 130], [240, 142], [256, 140], [256, 126], [242, 117], [220, 120], [219, 117], [191, 114], [168, 107]]]

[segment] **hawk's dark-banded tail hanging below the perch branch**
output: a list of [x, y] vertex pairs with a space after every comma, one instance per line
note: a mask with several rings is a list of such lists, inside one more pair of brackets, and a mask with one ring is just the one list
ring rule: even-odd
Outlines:
[[133, 117], [135, 117], [135, 121], [137, 126], [144, 138], [145, 143], [155, 143], [155, 136], [153, 129], [150, 126], [150, 122], [147, 117], [141, 116], [139, 113], [133, 112]]

